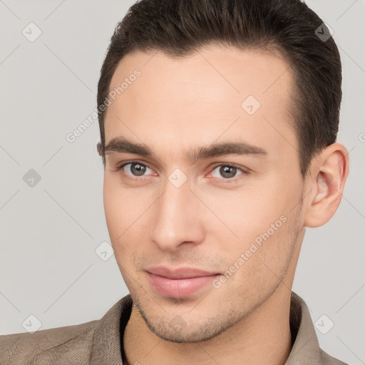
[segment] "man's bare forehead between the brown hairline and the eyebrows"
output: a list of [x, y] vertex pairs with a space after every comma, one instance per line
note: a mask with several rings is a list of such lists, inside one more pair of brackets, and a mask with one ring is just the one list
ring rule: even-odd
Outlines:
[[284, 140], [293, 145], [291, 87], [289, 64], [268, 52], [210, 46], [180, 58], [130, 53], [110, 82], [106, 144], [123, 135], [161, 152], [237, 136], [272, 150]]

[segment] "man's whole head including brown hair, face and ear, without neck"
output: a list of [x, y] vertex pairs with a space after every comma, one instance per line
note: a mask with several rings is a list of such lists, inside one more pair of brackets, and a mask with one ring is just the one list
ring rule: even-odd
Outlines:
[[[158, 336], [209, 339], [289, 296], [305, 227], [334, 215], [349, 164], [322, 24], [299, 0], [141, 0], [117, 25], [98, 83], [104, 206]], [[217, 275], [162, 294], [160, 266]]]

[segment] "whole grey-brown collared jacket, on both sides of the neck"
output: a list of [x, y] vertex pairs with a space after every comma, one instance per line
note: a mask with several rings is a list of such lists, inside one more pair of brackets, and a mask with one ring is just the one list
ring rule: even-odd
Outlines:
[[[0, 336], [0, 364], [123, 365], [120, 338], [123, 339], [132, 304], [128, 294], [96, 321], [43, 329], [34, 334]], [[290, 327], [295, 341], [285, 365], [346, 365], [319, 348], [308, 307], [294, 292]]]

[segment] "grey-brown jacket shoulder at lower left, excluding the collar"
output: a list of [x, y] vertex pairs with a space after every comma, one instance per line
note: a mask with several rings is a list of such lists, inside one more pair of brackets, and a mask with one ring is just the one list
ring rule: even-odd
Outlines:
[[[88, 364], [93, 334], [99, 320], [31, 333], [0, 336], [1, 364]], [[77, 359], [76, 356], [77, 355]], [[84, 359], [84, 361], [83, 361]], [[61, 364], [61, 362], [60, 362]]]

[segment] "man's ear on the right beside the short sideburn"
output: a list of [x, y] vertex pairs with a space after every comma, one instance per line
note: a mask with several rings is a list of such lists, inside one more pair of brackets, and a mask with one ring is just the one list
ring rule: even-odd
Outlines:
[[349, 153], [340, 143], [329, 145], [313, 158], [308, 183], [311, 193], [304, 216], [305, 227], [320, 227], [333, 217], [341, 202], [347, 175]]

